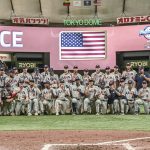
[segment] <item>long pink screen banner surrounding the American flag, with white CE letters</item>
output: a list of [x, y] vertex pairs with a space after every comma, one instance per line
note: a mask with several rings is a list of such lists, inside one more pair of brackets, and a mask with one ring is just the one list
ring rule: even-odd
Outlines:
[[[116, 64], [117, 51], [142, 51], [147, 43], [146, 29], [149, 25], [94, 27], [94, 28], [39, 28], [0, 26], [0, 52], [50, 52], [50, 65], [62, 70], [64, 65], [70, 69], [78, 65], [79, 69], [94, 69], [96, 64], [102, 68]], [[90, 60], [60, 59], [60, 33], [62, 32], [105, 32], [105, 58]], [[141, 32], [140, 34], [140, 31]], [[101, 39], [103, 40], [103, 39]], [[99, 41], [95, 41], [99, 42]], [[102, 41], [100, 41], [102, 42]], [[102, 46], [102, 45], [101, 45]], [[90, 46], [89, 46], [90, 47]], [[148, 50], [148, 49], [147, 49]], [[101, 53], [101, 52], [100, 52]]]

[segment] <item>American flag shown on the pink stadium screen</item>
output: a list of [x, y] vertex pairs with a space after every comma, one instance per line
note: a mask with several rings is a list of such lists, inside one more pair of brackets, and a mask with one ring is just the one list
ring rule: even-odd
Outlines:
[[60, 60], [92, 60], [106, 57], [105, 32], [60, 33]]

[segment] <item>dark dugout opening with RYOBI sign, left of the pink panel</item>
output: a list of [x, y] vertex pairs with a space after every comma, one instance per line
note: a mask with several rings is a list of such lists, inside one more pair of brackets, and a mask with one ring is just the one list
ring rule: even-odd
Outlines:
[[50, 65], [50, 53], [47, 52], [10, 52], [0, 53], [0, 56], [9, 69], [16, 66], [18, 69], [28, 67], [29, 71], [33, 71], [35, 67], [42, 69], [44, 64]]

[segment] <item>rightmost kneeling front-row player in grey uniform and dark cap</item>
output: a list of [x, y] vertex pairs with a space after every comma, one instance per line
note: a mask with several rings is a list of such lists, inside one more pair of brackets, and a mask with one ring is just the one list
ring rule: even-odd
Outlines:
[[135, 101], [135, 114], [138, 114], [139, 105], [144, 105], [145, 114], [149, 114], [150, 108], [150, 88], [147, 86], [147, 81], [142, 82], [142, 88], [138, 92], [138, 97]]

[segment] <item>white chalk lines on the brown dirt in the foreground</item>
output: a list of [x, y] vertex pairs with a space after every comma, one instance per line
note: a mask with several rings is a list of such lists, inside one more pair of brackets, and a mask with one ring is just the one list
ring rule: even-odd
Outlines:
[[[45, 144], [44, 147], [41, 150], [52, 150], [53, 146], [84, 146], [84, 145], [111, 145], [116, 143], [123, 143], [123, 142], [129, 142], [129, 141], [136, 141], [136, 140], [145, 140], [150, 139], [150, 137], [141, 137], [141, 138], [134, 138], [134, 139], [125, 139], [125, 140], [118, 140], [118, 141], [108, 141], [108, 142], [100, 142], [100, 143], [79, 143], [79, 144]], [[131, 145], [127, 145], [128, 143], [122, 144], [124, 147], [127, 148], [127, 150], [134, 150], [134, 148]], [[130, 148], [130, 149], [129, 149]], [[131, 149], [132, 148], [132, 149]]]

